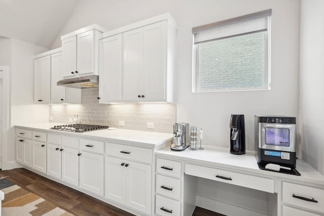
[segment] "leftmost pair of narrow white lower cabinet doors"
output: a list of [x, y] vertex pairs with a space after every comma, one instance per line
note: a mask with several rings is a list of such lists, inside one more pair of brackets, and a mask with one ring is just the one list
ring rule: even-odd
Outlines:
[[31, 167], [31, 140], [17, 137], [16, 161], [25, 166]]

